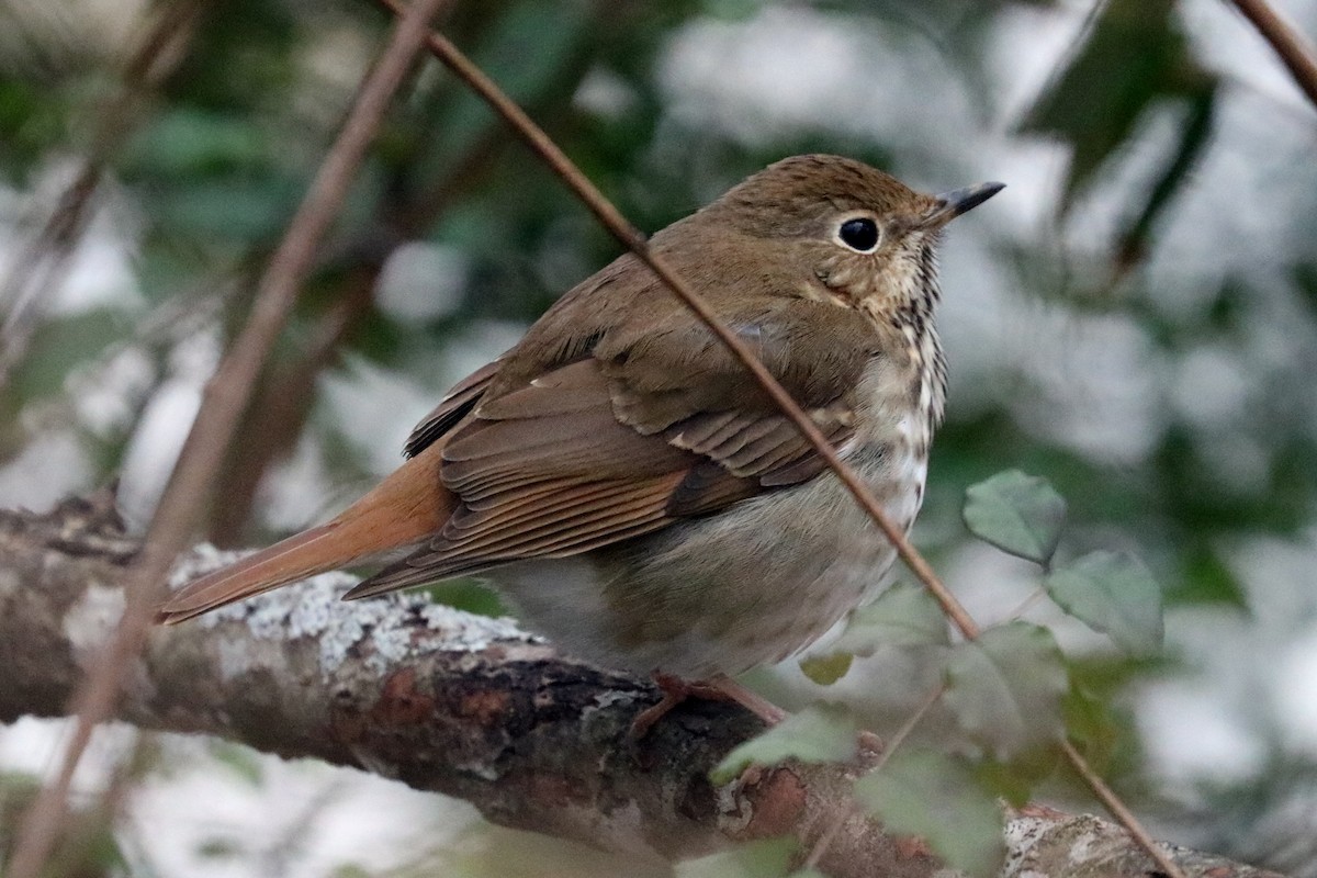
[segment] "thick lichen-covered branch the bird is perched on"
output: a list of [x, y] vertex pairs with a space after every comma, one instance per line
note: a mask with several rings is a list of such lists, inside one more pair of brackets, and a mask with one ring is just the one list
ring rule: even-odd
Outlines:
[[[136, 550], [108, 498], [42, 516], [0, 511], [0, 721], [65, 712], [122, 609]], [[217, 559], [199, 549], [183, 563]], [[358, 766], [466, 799], [503, 825], [647, 857], [786, 833], [807, 849], [844, 819], [820, 864], [827, 874], [938, 867], [922, 845], [852, 813], [846, 788], [863, 765], [756, 769], [715, 788], [709, 769], [760, 729], [741, 708], [691, 702], [633, 741], [631, 720], [657, 699], [649, 683], [421, 598], [344, 604], [344, 586], [321, 577], [153, 632], [126, 675], [122, 717]], [[1150, 869], [1118, 827], [1094, 817], [1033, 810], [1011, 820], [1008, 841], [1011, 874]], [[1188, 874], [1266, 874], [1173, 856]]]

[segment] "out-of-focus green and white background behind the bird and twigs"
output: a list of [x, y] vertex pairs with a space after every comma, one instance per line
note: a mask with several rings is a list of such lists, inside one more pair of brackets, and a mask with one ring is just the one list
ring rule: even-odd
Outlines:
[[[1317, 34], [1317, 1], [1276, 7]], [[387, 28], [362, 0], [0, 0], [0, 507], [117, 477], [145, 524]], [[1317, 109], [1229, 3], [485, 0], [445, 30], [645, 230], [803, 151], [926, 191], [1006, 182], [943, 247], [951, 396], [917, 542], [982, 621], [1009, 617], [1036, 578], [972, 541], [960, 503], [1018, 467], [1069, 502], [1064, 555], [1139, 553], [1168, 602], [1156, 661], [1031, 611], [1105, 706], [1101, 767], [1155, 835], [1317, 875]], [[427, 63], [199, 538], [257, 545], [341, 508], [616, 254]], [[500, 612], [468, 584], [437, 598]], [[900, 677], [873, 661], [842, 688]], [[794, 667], [765, 684], [807, 687]], [[0, 728], [0, 836], [62, 731]], [[107, 787], [86, 870], [61, 874], [618, 869], [198, 738], [107, 729], [79, 788]]]

